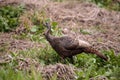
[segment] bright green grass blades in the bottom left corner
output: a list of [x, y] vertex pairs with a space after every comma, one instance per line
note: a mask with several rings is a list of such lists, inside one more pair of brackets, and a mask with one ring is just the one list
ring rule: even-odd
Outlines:
[[43, 80], [41, 74], [35, 70], [31, 73], [25, 71], [15, 71], [12, 68], [2, 68], [0, 70], [0, 80]]

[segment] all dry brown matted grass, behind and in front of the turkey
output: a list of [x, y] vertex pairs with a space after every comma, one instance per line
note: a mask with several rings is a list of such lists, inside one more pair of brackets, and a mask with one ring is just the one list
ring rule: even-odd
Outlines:
[[[29, 16], [33, 15], [34, 10], [42, 9], [45, 10], [48, 17], [58, 22], [59, 27], [74, 31], [80, 39], [90, 42], [95, 48], [100, 50], [114, 49], [116, 53], [120, 53], [120, 12], [108, 11], [91, 3], [76, 1], [59, 3], [49, 0], [4, 0], [0, 4], [2, 6], [18, 3], [26, 4], [29, 11], [20, 17], [21, 24], [15, 30], [17, 34], [24, 33], [26, 26], [32, 27], [33, 23]], [[84, 35], [80, 33], [80, 29], [86, 30], [90, 34]], [[17, 52], [18, 50], [43, 46], [30, 40], [15, 39], [13, 35], [16, 33], [0, 33], [0, 55], [1, 53], [4, 55], [8, 51]], [[4, 51], [2, 52], [2, 50]], [[9, 57], [6, 59], [9, 61]], [[0, 57], [2, 63], [6, 62], [6, 59], [2, 60]], [[17, 69], [30, 70], [32, 66], [40, 71], [45, 79], [51, 78], [56, 73], [56, 76], [61, 80], [66, 78], [70, 78], [69, 80], [75, 79], [74, 67], [61, 63], [41, 66], [34, 59], [24, 58], [22, 60], [18, 58]]]

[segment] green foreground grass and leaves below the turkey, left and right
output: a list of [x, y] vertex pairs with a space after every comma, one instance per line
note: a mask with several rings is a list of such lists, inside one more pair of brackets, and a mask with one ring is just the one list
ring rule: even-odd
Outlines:
[[[109, 58], [109, 61], [105, 62], [96, 55], [91, 54], [79, 54], [74, 57], [75, 63], [73, 64], [79, 70], [76, 72], [78, 80], [89, 80], [98, 76], [105, 76], [109, 80], [120, 79], [120, 55], [115, 56], [112, 50], [103, 51]], [[32, 49], [28, 51], [21, 51], [18, 55], [12, 56], [13, 61], [8, 64], [0, 66], [0, 80], [42, 80], [41, 74], [31, 67], [31, 72], [15, 70], [17, 57], [31, 58], [37, 60], [42, 65], [56, 64], [62, 62], [58, 54], [48, 45], [45, 48]], [[67, 60], [67, 63], [69, 64]], [[33, 64], [34, 65], [34, 64]], [[52, 79], [56, 80], [56, 79]]]

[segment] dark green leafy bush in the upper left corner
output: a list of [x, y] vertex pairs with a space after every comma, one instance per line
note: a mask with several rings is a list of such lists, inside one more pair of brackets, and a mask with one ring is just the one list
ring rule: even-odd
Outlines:
[[0, 32], [8, 32], [19, 25], [19, 16], [24, 10], [23, 6], [3, 6], [0, 8]]

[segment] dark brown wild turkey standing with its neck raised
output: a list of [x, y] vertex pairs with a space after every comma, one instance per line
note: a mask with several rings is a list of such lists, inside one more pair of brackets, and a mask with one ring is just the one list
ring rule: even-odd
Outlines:
[[51, 35], [51, 25], [44, 24], [47, 27], [44, 35], [52, 48], [61, 56], [61, 58], [72, 58], [74, 55], [82, 52], [96, 54], [107, 61], [107, 57], [94, 49], [88, 42], [71, 36], [55, 37]]

